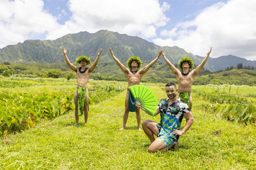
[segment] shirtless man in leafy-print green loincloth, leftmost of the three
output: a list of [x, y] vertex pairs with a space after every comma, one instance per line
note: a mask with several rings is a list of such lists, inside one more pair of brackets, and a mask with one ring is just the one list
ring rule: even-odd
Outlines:
[[76, 72], [77, 74], [77, 88], [75, 90], [74, 94], [74, 103], [75, 103], [75, 117], [76, 117], [76, 124], [79, 123], [79, 118], [78, 116], [82, 115], [84, 112], [84, 123], [87, 123], [88, 119], [88, 88], [87, 88], [87, 83], [89, 80], [89, 77], [98, 64], [100, 54], [101, 54], [101, 49], [99, 51], [98, 57], [94, 61], [94, 63], [91, 65], [91, 67], [86, 67], [87, 64], [91, 63], [91, 59], [88, 58], [87, 56], [79, 56], [76, 61], [78, 64], [81, 64], [81, 67], [78, 68], [74, 66], [68, 59], [67, 56], [67, 50], [66, 48], [63, 47], [63, 54], [65, 56], [65, 60], [68, 64], [68, 66]]

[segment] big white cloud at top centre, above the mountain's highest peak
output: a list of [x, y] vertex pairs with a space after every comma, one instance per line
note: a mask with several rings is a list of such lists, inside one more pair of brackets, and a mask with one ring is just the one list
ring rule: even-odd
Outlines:
[[131, 1], [83, 1], [69, 0], [71, 19], [60, 28], [48, 31], [47, 39], [54, 40], [68, 33], [102, 29], [120, 34], [150, 38], [156, 36], [156, 29], [169, 20], [163, 13], [170, 8], [157, 0]]

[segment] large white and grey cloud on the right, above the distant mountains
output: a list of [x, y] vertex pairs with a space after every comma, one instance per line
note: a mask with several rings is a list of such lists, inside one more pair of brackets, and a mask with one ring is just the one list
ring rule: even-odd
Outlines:
[[[155, 44], [178, 46], [195, 55], [211, 57], [236, 55], [256, 60], [256, 1], [231, 0], [205, 8], [194, 20], [180, 22], [170, 31], [163, 30]], [[177, 34], [177, 39], [173, 39]]]

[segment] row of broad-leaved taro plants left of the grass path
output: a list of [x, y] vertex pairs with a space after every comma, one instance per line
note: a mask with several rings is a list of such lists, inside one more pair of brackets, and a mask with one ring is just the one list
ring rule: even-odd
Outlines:
[[[121, 86], [96, 85], [89, 92], [89, 104], [115, 96], [125, 90]], [[52, 119], [74, 109], [73, 93], [1, 93], [0, 94], [0, 134], [18, 132], [32, 128], [40, 119]]]

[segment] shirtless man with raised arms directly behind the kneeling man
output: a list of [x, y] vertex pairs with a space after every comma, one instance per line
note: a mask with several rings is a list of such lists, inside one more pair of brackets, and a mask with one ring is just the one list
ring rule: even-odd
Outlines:
[[181, 101], [186, 103], [189, 107], [189, 109], [192, 109], [192, 95], [191, 95], [191, 88], [192, 84], [196, 78], [196, 76], [200, 73], [201, 69], [205, 65], [209, 55], [211, 53], [211, 48], [208, 51], [206, 57], [203, 59], [201, 64], [196, 67], [196, 69], [192, 70], [194, 68], [194, 62], [191, 60], [191, 58], [183, 57], [179, 60], [179, 69], [176, 69], [176, 67], [165, 57], [164, 53], [162, 53], [162, 56], [164, 57], [165, 62], [169, 65], [172, 72], [176, 75], [176, 79], [178, 82], [178, 97]]

